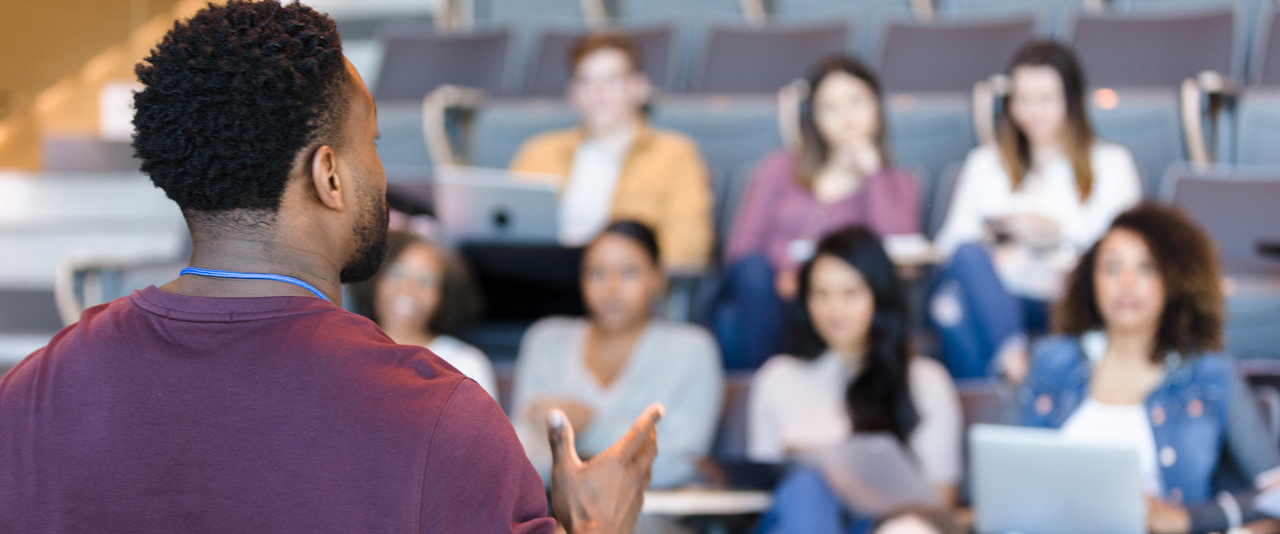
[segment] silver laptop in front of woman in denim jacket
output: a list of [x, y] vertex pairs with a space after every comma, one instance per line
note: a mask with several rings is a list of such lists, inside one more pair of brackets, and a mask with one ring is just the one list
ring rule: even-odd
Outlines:
[[1057, 430], [973, 425], [969, 473], [979, 534], [1143, 534], [1138, 452]]

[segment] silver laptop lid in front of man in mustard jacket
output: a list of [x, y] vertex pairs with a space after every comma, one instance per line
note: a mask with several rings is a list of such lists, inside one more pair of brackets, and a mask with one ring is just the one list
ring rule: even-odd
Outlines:
[[460, 165], [439, 165], [435, 172], [435, 216], [454, 241], [559, 242], [556, 177]]

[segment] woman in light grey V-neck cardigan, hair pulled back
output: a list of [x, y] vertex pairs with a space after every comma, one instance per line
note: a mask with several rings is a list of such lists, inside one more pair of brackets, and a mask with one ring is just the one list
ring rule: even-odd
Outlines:
[[549, 318], [520, 344], [512, 424], [530, 461], [548, 480], [552, 457], [544, 420], [563, 410], [584, 456], [608, 447], [654, 402], [659, 423], [654, 488], [694, 480], [721, 415], [723, 371], [716, 341], [699, 327], [655, 320], [666, 280], [652, 229], [609, 224], [582, 257], [586, 319]]

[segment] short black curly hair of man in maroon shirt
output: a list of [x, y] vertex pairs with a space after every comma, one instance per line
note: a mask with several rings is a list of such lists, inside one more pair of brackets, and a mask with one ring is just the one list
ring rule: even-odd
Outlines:
[[136, 158], [184, 213], [274, 213], [298, 151], [340, 146], [349, 85], [333, 19], [230, 0], [177, 22], [136, 68]]

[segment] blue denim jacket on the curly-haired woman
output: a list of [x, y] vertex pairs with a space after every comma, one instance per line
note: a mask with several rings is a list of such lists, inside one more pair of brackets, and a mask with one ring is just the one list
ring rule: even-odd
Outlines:
[[[1093, 339], [1089, 339], [1089, 338]], [[1093, 364], [1087, 353], [1101, 356], [1100, 333], [1083, 337], [1051, 337], [1033, 350], [1030, 373], [1019, 392], [1021, 421], [1028, 426], [1061, 428], [1088, 396]], [[1093, 343], [1091, 343], [1093, 342]], [[1164, 480], [1166, 501], [1188, 506], [1193, 521], [1208, 520], [1197, 505], [1211, 505], [1212, 515], [1224, 514], [1230, 522], [1256, 517], [1252, 498], [1215, 496], [1213, 480], [1222, 460], [1233, 464], [1253, 487], [1276, 479], [1280, 449], [1271, 443], [1257, 405], [1233, 360], [1207, 353], [1165, 360], [1165, 378], [1147, 397], [1147, 419], [1156, 439], [1156, 458]], [[1234, 511], [1216, 508], [1231, 508]], [[1242, 510], [1242, 507], [1244, 510]], [[1212, 521], [1219, 522], [1219, 521]], [[1226, 526], [1226, 525], [1221, 525]], [[1233, 525], [1234, 526], [1234, 525]], [[1197, 529], [1201, 530], [1201, 529]]]

